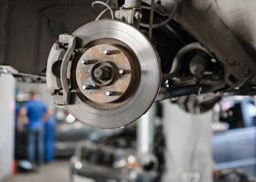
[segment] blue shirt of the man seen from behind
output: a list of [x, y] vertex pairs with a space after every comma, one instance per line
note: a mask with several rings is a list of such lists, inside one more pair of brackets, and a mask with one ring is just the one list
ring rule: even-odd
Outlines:
[[26, 125], [26, 127], [29, 129], [42, 128], [42, 118], [47, 111], [45, 103], [42, 103], [40, 100], [29, 100], [24, 107], [26, 108], [27, 116], [29, 118], [29, 124]]

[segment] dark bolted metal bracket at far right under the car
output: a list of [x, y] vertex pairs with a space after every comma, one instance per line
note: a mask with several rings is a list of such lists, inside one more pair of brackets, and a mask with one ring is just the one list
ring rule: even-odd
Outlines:
[[250, 77], [252, 77], [252, 71], [244, 61], [236, 59], [227, 59], [225, 63], [225, 81], [232, 87], [240, 87]]

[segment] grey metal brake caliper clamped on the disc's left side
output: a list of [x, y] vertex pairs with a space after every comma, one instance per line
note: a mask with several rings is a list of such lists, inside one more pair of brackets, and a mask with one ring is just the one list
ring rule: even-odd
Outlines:
[[75, 36], [61, 34], [59, 41], [53, 44], [47, 63], [46, 79], [53, 103], [65, 105], [70, 102], [67, 68], [75, 48]]

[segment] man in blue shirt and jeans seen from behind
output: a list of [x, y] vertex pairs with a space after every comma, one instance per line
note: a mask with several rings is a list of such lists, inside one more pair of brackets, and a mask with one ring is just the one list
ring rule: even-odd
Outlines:
[[34, 150], [37, 148], [38, 165], [41, 165], [44, 159], [44, 121], [48, 119], [47, 117], [47, 106], [37, 99], [34, 92], [31, 92], [30, 100], [20, 109], [20, 118], [26, 124], [29, 161], [34, 162]]

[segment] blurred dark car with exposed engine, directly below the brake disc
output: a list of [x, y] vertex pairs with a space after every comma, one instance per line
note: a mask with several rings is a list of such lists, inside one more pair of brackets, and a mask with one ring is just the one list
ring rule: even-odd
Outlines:
[[[165, 145], [163, 135], [158, 134], [152, 149], [155, 159], [138, 154], [135, 126], [99, 143], [80, 142], [75, 156], [70, 159], [71, 181], [160, 181], [165, 169]], [[148, 162], [142, 162], [142, 158], [147, 158]]]

